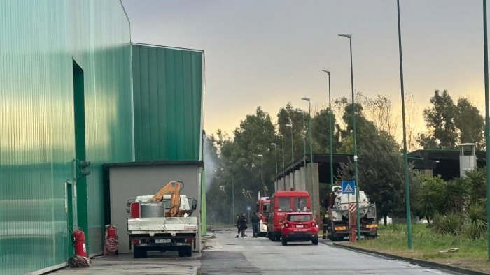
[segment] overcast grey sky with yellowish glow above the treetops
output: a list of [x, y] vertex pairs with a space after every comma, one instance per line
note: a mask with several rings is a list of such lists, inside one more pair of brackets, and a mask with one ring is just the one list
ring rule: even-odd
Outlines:
[[[204, 129], [230, 135], [257, 106], [276, 120], [288, 102], [307, 110], [350, 96], [383, 94], [400, 110], [395, 0], [123, 0], [132, 41], [204, 50]], [[482, 1], [400, 0], [405, 92], [423, 108], [435, 89], [470, 98], [484, 115]], [[399, 115], [398, 117], [401, 117]], [[401, 124], [401, 121], [400, 121]]]

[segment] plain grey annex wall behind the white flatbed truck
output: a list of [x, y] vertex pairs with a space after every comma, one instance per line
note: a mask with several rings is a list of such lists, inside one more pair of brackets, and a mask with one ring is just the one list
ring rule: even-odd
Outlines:
[[[111, 223], [118, 228], [118, 252], [132, 252], [126, 231], [126, 218], [130, 215], [126, 212], [127, 200], [134, 199], [137, 195], [153, 195], [169, 181], [183, 181], [181, 195], [199, 200], [200, 173], [201, 168], [198, 165], [110, 167]], [[193, 213], [199, 222], [200, 205], [201, 202], [197, 204], [198, 208]], [[201, 232], [198, 232], [195, 251], [201, 250], [200, 235]]]

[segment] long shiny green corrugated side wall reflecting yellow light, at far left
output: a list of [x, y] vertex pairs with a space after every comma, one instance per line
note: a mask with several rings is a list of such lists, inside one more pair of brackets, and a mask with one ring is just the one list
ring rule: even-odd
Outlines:
[[0, 1], [0, 274], [66, 262], [73, 61], [83, 69], [92, 174], [78, 223], [102, 251], [101, 163], [132, 161], [130, 24], [118, 0]]

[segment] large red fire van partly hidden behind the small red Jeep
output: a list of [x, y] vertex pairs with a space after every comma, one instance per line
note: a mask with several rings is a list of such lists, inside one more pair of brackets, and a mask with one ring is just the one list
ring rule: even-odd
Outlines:
[[270, 198], [267, 237], [271, 241], [281, 239], [281, 225], [289, 212], [309, 212], [311, 201], [307, 191], [277, 191]]

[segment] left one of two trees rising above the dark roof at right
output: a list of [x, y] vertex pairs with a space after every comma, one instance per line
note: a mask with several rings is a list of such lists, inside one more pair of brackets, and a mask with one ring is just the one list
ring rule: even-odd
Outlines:
[[442, 94], [439, 90], [435, 90], [430, 103], [433, 106], [423, 110], [423, 118], [430, 129], [430, 134], [419, 135], [418, 141], [424, 149], [434, 148], [434, 145], [438, 149], [456, 147], [458, 133], [454, 119], [457, 110], [451, 96], [446, 90], [442, 91]]

